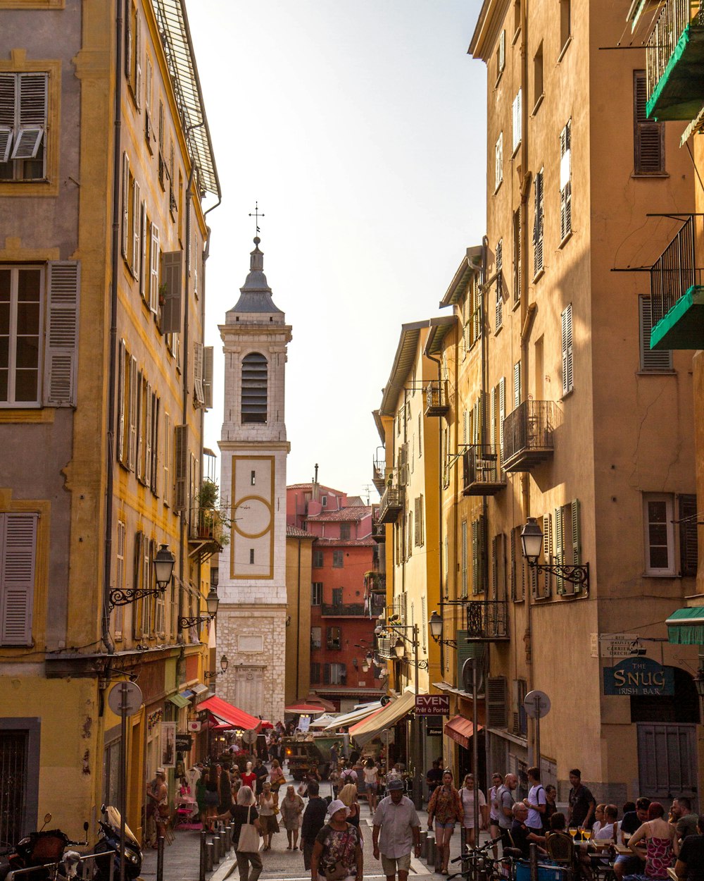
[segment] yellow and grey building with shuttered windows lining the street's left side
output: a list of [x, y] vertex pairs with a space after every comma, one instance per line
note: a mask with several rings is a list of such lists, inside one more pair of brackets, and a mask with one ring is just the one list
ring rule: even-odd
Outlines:
[[116, 803], [106, 699], [125, 678], [141, 833], [146, 783], [194, 759], [173, 736], [208, 692], [188, 619], [219, 537], [201, 504], [219, 183], [183, 4], [4, 0], [0, 33], [0, 751], [22, 780], [0, 838], [46, 811], [77, 836]]

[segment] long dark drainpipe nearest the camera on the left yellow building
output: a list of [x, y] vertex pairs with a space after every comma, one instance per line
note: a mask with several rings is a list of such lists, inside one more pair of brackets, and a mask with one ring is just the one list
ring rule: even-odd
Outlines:
[[120, 152], [122, 101], [122, 4], [116, 4], [115, 16], [115, 100], [113, 120], [113, 240], [110, 255], [110, 350], [107, 367], [107, 425], [106, 425], [106, 488], [105, 488], [105, 552], [103, 555], [103, 610], [100, 616], [101, 639], [108, 655], [114, 655], [110, 637], [110, 570], [113, 565], [113, 486], [115, 456], [115, 371], [117, 366], [117, 280], [120, 253]]

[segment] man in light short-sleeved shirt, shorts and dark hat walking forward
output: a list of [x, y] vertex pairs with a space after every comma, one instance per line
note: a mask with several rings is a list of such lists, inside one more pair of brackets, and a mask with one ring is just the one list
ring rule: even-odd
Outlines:
[[388, 796], [378, 803], [374, 813], [372, 845], [374, 859], [381, 855], [386, 881], [406, 881], [411, 868], [411, 848], [421, 855], [421, 821], [414, 803], [403, 794], [403, 781], [387, 781]]

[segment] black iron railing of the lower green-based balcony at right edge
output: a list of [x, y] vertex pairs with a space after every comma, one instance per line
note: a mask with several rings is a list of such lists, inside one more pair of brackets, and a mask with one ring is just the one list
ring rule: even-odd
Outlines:
[[[695, 229], [698, 221], [699, 229]], [[704, 232], [702, 218], [689, 217], [650, 270], [651, 321], [655, 325], [693, 285], [700, 285], [696, 238]]]

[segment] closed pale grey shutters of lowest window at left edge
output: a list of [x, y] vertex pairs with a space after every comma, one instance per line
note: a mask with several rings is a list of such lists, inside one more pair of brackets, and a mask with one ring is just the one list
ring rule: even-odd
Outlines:
[[36, 514], [0, 515], [0, 645], [32, 642]]

